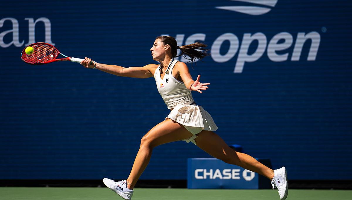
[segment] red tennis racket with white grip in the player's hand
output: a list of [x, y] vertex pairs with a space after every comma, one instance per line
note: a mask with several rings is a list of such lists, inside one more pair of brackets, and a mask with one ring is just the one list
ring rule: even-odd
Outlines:
[[[34, 50], [30, 55], [25, 52], [25, 49], [29, 46], [31, 46]], [[24, 62], [32, 65], [42, 65], [57, 61], [71, 61], [75, 63], [81, 63], [81, 61], [84, 60], [81, 58], [65, 56], [64, 54], [60, 53], [55, 46], [52, 46], [48, 43], [33, 43], [26, 46], [26, 48], [24, 48], [21, 53], [21, 59]], [[65, 58], [56, 59], [59, 54]], [[93, 62], [90, 62], [90, 64], [92, 65]]]

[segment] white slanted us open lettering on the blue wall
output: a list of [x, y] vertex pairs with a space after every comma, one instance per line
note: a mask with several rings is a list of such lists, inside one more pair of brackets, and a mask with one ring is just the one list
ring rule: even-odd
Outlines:
[[[165, 34], [166, 35], [166, 34]], [[177, 34], [176, 41], [178, 46], [183, 45], [185, 34]], [[195, 33], [186, 38], [186, 44], [193, 43], [196, 40], [206, 42], [206, 34], [204, 33]], [[302, 53], [302, 49], [307, 40], [311, 40], [312, 43], [309, 47], [309, 53], [307, 61], [314, 61], [316, 55], [318, 54], [319, 45], [320, 45], [320, 34], [318, 32], [299, 32], [297, 33], [296, 42], [294, 45], [294, 50], [292, 52], [291, 61], [299, 61]], [[224, 44], [224, 41], [230, 41], [230, 47], [228, 51], [224, 54], [220, 54], [221, 46]], [[234, 73], [242, 73], [245, 63], [252, 63], [259, 60], [266, 50], [266, 55], [272, 62], [284, 62], [289, 60], [289, 52], [279, 54], [277, 51], [283, 51], [289, 49], [294, 41], [294, 38], [291, 33], [281, 32], [277, 33], [272, 37], [268, 43], [268, 39], [264, 33], [244, 33], [241, 42], [239, 43], [238, 37], [233, 33], [224, 33], [216, 38], [211, 45], [210, 54], [212, 59], [216, 63], [225, 63], [231, 62], [235, 63]], [[249, 49], [251, 44], [254, 41], [258, 41], [258, 45], [254, 53], [249, 54]], [[280, 42], [283, 41], [283, 42]], [[280, 43], [279, 43], [280, 42]], [[235, 62], [232, 62], [231, 59], [235, 57], [237, 51], [239, 53]], [[177, 54], [180, 54], [178, 50]], [[181, 61], [187, 61], [187, 59], [181, 59]]]

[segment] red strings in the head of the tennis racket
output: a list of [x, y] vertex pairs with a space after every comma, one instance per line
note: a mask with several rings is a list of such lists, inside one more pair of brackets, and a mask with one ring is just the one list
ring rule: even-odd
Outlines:
[[28, 55], [25, 51], [22, 52], [22, 59], [31, 64], [45, 63], [54, 60], [58, 56], [58, 51], [54, 46], [48, 44], [34, 44], [33, 53]]

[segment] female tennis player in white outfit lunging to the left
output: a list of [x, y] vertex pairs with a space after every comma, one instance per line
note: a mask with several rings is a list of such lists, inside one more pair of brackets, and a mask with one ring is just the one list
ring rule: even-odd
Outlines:
[[[193, 142], [211, 156], [226, 163], [235, 164], [252, 172], [256, 172], [271, 180], [271, 184], [278, 188], [280, 198], [286, 199], [288, 194], [287, 174], [285, 167], [272, 170], [253, 157], [236, 152], [213, 131], [218, 129], [213, 118], [201, 106], [196, 105], [191, 91], [207, 90], [210, 83], [201, 83], [200, 75], [194, 81], [183, 62], [175, 57], [188, 56], [193, 63], [195, 59], [202, 59], [206, 53], [205, 44], [193, 43], [177, 46], [173, 37], [157, 37], [150, 49], [153, 60], [160, 64], [149, 64], [143, 67], [121, 67], [92, 62], [85, 58], [81, 65], [86, 68], [99, 69], [117, 76], [133, 78], [154, 77], [157, 89], [171, 110], [165, 121], [160, 122], [142, 137], [140, 148], [134, 160], [130, 176], [124, 181], [115, 182], [104, 178], [103, 182], [112, 191], [126, 200], [133, 195], [133, 188], [149, 163], [153, 148], [174, 141], [184, 140]], [[181, 54], [177, 56], [177, 49]]]

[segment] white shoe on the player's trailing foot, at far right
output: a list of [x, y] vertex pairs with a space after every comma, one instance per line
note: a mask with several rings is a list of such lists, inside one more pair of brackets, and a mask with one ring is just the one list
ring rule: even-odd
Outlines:
[[288, 195], [287, 172], [285, 167], [274, 170], [274, 178], [272, 179], [271, 184], [272, 189], [275, 189], [276, 187], [279, 190], [280, 199], [285, 200]]

